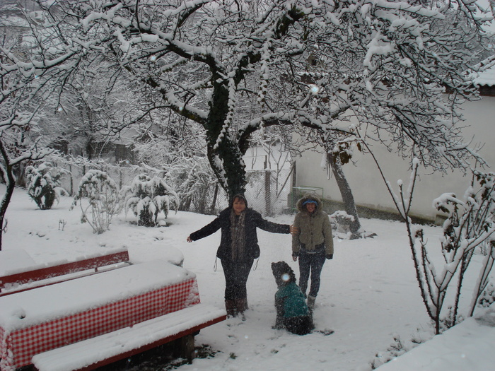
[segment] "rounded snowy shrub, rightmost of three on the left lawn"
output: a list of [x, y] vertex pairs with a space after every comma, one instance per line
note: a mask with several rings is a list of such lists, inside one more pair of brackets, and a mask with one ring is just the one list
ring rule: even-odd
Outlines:
[[170, 209], [177, 212], [179, 197], [172, 188], [159, 177], [138, 175], [130, 186], [122, 187], [122, 198], [125, 208], [132, 210], [139, 217], [138, 224], [154, 227], [157, 224], [158, 213], [163, 211], [165, 218]]

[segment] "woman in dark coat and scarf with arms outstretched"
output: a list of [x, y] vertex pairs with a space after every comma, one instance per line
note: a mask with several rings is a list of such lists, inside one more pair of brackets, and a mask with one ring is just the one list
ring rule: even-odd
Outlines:
[[229, 317], [243, 314], [248, 309], [246, 283], [253, 261], [260, 257], [256, 228], [273, 233], [291, 232], [288, 224], [263, 219], [260, 213], [248, 208], [248, 201], [238, 194], [215, 220], [187, 237], [187, 242], [192, 242], [221, 229], [216, 257], [221, 260], [225, 276], [225, 307]]

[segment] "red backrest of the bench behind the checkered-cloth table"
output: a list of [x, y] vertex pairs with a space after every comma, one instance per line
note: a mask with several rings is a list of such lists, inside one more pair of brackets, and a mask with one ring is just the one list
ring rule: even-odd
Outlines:
[[[40, 269], [0, 276], [0, 291], [1, 289], [6, 288], [6, 285], [23, 285], [25, 283], [41, 281], [47, 278], [64, 276], [66, 274], [76, 273], [79, 271], [87, 271], [88, 269], [95, 269], [95, 271], [98, 271], [98, 268], [103, 266], [123, 262], [129, 262], [129, 252], [127, 252], [127, 250], [102, 255], [100, 257], [92, 257], [89, 259], [72, 261], [70, 263], [46, 266]], [[16, 290], [16, 292], [18, 291], [19, 290]], [[0, 293], [0, 295], [6, 294]]]

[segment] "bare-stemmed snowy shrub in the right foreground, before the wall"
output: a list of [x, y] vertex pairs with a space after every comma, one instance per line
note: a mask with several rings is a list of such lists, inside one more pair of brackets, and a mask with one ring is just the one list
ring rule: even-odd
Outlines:
[[[442, 329], [454, 326], [462, 317], [471, 317], [479, 298], [484, 296], [489, 286], [490, 273], [495, 261], [495, 175], [474, 171], [477, 184], [473, 179], [464, 199], [446, 193], [433, 200], [433, 206], [448, 213], [448, 218], [443, 223], [441, 264], [436, 264], [435, 254], [427, 246], [424, 229], [420, 225], [414, 225], [409, 217], [418, 167], [419, 160], [414, 159], [407, 187], [404, 187], [402, 180], [397, 182], [398, 194], [385, 179], [383, 172], [382, 175], [407, 228], [409, 247], [426, 312], [433, 321], [436, 334], [440, 334]], [[475, 250], [482, 246], [486, 247], [487, 253], [479, 265], [478, 280], [470, 293], [472, 300], [466, 312], [459, 314], [466, 271], [470, 267]], [[445, 298], [449, 289], [454, 290], [452, 283], [455, 279], [457, 285], [453, 304], [449, 306], [448, 314], [445, 314]]]

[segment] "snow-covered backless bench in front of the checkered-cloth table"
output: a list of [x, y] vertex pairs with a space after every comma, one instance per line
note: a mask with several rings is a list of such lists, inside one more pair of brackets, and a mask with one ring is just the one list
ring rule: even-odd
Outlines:
[[33, 356], [33, 365], [39, 371], [94, 370], [181, 338], [180, 356], [191, 362], [194, 335], [224, 319], [225, 310], [200, 303], [132, 327], [37, 354]]

